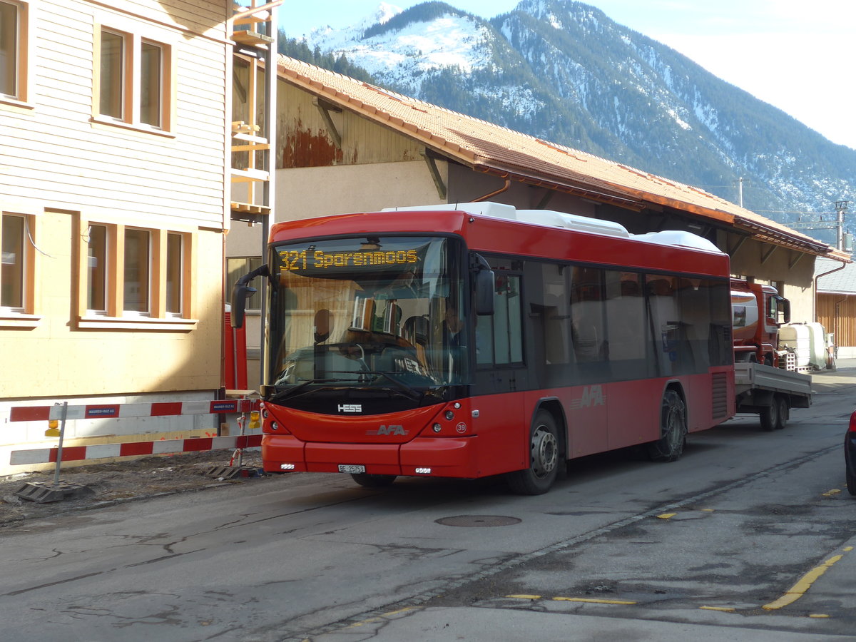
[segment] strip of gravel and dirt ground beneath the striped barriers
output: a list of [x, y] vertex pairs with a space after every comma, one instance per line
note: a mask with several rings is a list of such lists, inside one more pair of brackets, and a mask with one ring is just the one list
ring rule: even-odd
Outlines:
[[[244, 452], [243, 467], [252, 469], [247, 476], [217, 478], [206, 474], [214, 468], [228, 466], [231, 456], [229, 450], [213, 450], [63, 469], [60, 473], [61, 484], [79, 484], [88, 490], [82, 496], [47, 503], [31, 501], [17, 493], [26, 487], [30, 490], [25, 491], [25, 495], [37, 495], [32, 490], [33, 486], [27, 484], [53, 487], [53, 471], [0, 477], [0, 528], [14, 526], [23, 520], [100, 508], [117, 502], [205, 490], [224, 484], [253, 483], [253, 475], [260, 473], [261, 467], [261, 453], [258, 450]], [[255, 481], [258, 483], [258, 479]]]

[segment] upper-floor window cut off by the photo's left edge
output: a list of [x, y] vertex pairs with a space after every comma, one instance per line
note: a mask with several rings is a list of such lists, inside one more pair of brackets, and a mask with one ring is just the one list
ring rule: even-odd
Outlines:
[[0, 0], [0, 99], [27, 100], [30, 3]]

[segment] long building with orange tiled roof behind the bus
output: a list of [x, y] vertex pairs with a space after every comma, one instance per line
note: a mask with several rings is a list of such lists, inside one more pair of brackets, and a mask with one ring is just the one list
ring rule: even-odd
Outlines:
[[[689, 230], [731, 256], [734, 276], [776, 285], [792, 301], [794, 320], [805, 321], [813, 320], [815, 258], [848, 260], [697, 187], [285, 56], [277, 72], [277, 222], [492, 200], [615, 221], [634, 234]], [[235, 228], [229, 260], [260, 261], [265, 234]], [[258, 337], [258, 315], [250, 324], [247, 336]], [[253, 372], [258, 378], [255, 365], [251, 379]]]

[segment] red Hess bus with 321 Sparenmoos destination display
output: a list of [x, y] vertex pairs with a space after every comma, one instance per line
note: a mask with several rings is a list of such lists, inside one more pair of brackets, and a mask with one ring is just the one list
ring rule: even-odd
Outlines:
[[556, 211], [465, 203], [278, 223], [265, 471], [550, 489], [566, 461], [681, 456], [734, 414], [728, 256]]

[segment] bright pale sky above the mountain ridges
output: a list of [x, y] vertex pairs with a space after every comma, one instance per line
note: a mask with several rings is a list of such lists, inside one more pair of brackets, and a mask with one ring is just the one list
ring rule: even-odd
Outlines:
[[[389, 2], [407, 9], [423, 0]], [[483, 18], [518, 0], [447, 0]], [[346, 27], [381, 0], [285, 0], [289, 36]], [[839, 145], [856, 149], [856, 0], [590, 0], [612, 20], [680, 51]]]

